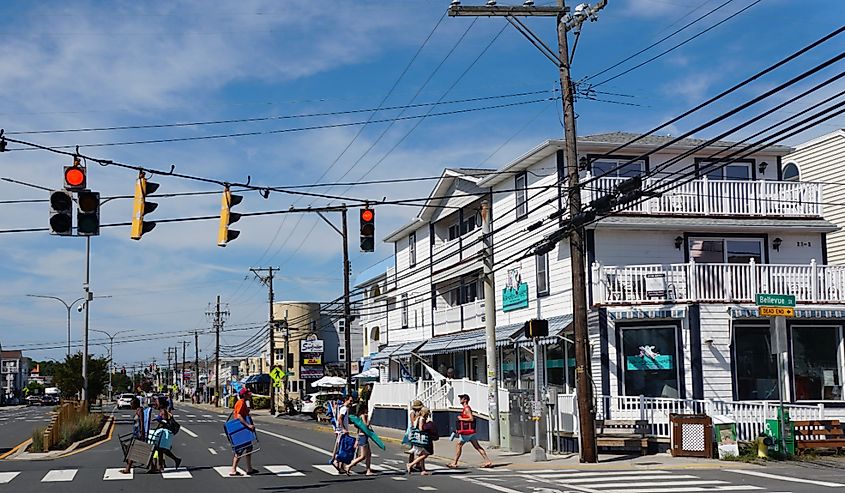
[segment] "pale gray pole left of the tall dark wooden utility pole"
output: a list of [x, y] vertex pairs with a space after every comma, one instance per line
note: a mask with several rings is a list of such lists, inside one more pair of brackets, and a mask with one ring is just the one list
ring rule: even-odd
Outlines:
[[491, 207], [481, 202], [481, 235], [484, 240], [484, 332], [487, 339], [487, 406], [490, 415], [490, 446], [501, 445], [499, 433], [499, 366], [496, 357], [496, 277], [493, 274]]

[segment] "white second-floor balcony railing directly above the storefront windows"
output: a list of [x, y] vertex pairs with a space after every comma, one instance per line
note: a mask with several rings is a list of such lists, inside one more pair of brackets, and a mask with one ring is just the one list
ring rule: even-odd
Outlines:
[[799, 303], [845, 302], [845, 266], [758, 264], [601, 265], [593, 302], [754, 302], [757, 293], [791, 294]]

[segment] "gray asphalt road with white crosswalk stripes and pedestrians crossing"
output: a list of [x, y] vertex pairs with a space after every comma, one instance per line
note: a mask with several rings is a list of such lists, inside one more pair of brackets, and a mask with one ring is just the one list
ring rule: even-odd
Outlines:
[[[404, 473], [405, 455], [399, 446], [388, 444], [377, 450], [374, 464], [380, 473], [367, 477], [363, 469], [351, 477], [339, 476], [328, 461], [333, 435], [313, 431], [310, 424], [281, 419], [257, 423], [260, 450], [253, 466], [260, 473], [251, 477], [228, 477], [231, 451], [222, 434], [223, 412], [208, 412], [180, 406], [177, 419], [182, 431], [174, 441], [174, 452], [183, 458], [178, 471], [146, 474], [135, 469], [131, 476], [117, 472], [122, 458], [118, 434], [128, 433], [128, 412], [119, 418], [112, 439], [76, 455], [52, 461], [0, 461], [0, 489], [14, 487], [16, 493], [41, 492], [58, 482], [91, 491], [259, 491], [292, 490], [388, 493], [411, 491], [460, 491], [461, 493], [690, 493], [711, 491], [818, 492], [845, 491], [843, 463], [791, 463], [753, 470], [631, 470], [624, 465], [604, 464], [605, 469], [536, 469], [502, 464], [492, 470], [464, 468], [457, 471], [432, 463], [432, 476]], [[123, 416], [127, 416], [124, 418]], [[451, 451], [447, 440], [438, 450]], [[467, 453], [472, 453], [467, 450]], [[449, 455], [445, 451], [439, 452]], [[172, 464], [169, 464], [172, 467]], [[245, 467], [245, 466], [244, 466]], [[754, 474], [749, 474], [749, 471]], [[762, 474], [762, 475], [761, 475]], [[768, 475], [768, 476], [766, 476]], [[794, 482], [794, 481], [799, 482]]]

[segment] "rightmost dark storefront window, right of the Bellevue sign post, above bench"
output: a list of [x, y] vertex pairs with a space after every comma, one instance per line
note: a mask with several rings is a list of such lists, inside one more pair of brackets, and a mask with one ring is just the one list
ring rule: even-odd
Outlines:
[[842, 328], [795, 325], [792, 361], [797, 400], [842, 399]]

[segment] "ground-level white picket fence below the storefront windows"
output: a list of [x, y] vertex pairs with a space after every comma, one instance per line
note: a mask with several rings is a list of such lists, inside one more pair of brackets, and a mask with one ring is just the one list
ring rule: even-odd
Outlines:
[[[767, 419], [777, 418], [778, 403], [767, 401], [720, 401], [671, 399], [644, 396], [598, 396], [596, 419], [645, 420], [650, 434], [668, 438], [671, 414], [723, 415], [736, 421], [740, 440], [754, 440], [765, 429]], [[824, 405], [784, 404], [792, 420], [824, 419]], [[578, 406], [574, 394], [559, 394], [557, 420], [560, 431], [578, 431]]]

